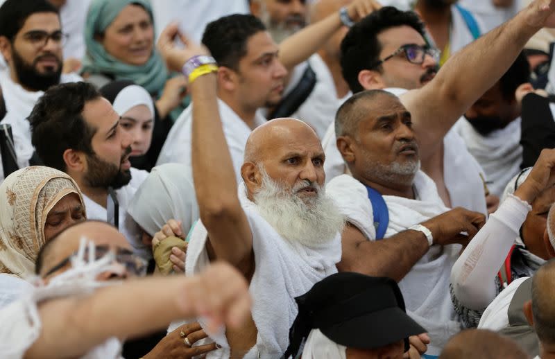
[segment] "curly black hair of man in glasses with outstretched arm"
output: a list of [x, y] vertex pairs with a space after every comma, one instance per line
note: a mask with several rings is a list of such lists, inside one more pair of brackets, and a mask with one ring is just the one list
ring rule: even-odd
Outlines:
[[[385, 6], [372, 12], [349, 29], [341, 42], [341, 73], [353, 93], [364, 90], [359, 83], [359, 72], [370, 69], [379, 61], [382, 44], [377, 35], [388, 28], [410, 26], [425, 39], [424, 25], [418, 15], [412, 11], [400, 11], [392, 6]], [[382, 67], [376, 67], [382, 71]]]

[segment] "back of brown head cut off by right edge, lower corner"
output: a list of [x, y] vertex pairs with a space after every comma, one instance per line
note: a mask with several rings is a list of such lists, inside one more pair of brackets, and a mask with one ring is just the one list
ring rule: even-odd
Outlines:
[[551, 259], [533, 275], [533, 327], [541, 342], [555, 344], [555, 259]]

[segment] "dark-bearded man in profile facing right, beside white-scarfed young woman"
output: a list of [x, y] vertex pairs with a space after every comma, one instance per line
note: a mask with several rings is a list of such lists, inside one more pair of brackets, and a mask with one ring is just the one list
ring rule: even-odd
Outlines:
[[77, 182], [87, 218], [116, 225], [137, 254], [149, 259], [151, 249], [142, 243], [142, 232], [127, 213], [148, 173], [131, 168], [131, 138], [121, 130], [119, 119], [110, 102], [85, 82], [51, 87], [29, 116], [37, 155], [46, 166]]

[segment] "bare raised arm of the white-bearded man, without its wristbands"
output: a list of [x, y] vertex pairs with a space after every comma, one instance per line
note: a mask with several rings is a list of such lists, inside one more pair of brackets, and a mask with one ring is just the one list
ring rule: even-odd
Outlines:
[[[177, 49], [173, 39], [179, 36], [185, 44]], [[190, 42], [168, 26], [158, 40], [158, 48], [170, 69], [181, 71], [183, 64], [195, 55], [210, 55], [204, 46]], [[237, 195], [237, 181], [228, 144], [223, 134], [218, 101], [216, 74], [198, 76], [189, 83], [193, 106], [192, 165], [195, 193], [216, 259], [230, 262], [250, 272], [253, 261], [253, 234]]]

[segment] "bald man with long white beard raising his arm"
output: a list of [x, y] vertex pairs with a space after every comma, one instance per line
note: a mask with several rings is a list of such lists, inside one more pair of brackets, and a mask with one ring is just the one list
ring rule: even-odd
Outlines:
[[[176, 49], [176, 35], [168, 29], [159, 43], [172, 69], [208, 54], [182, 35], [185, 49]], [[302, 121], [265, 123], [248, 138], [244, 183], [238, 188], [216, 103], [216, 74], [203, 74], [189, 89], [195, 103], [192, 165], [200, 222], [191, 231], [186, 274], [216, 259], [228, 261], [250, 282], [255, 298], [250, 320], [240, 330], [210, 336], [221, 349], [208, 357], [278, 358], [298, 312], [294, 298], [335, 273], [341, 258], [344, 222], [323, 189], [323, 148]]]

